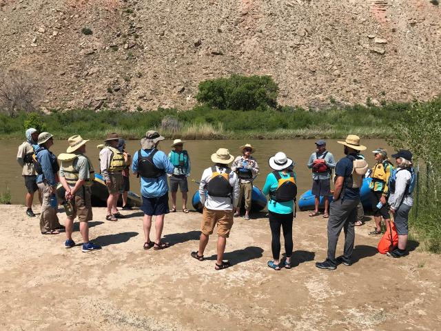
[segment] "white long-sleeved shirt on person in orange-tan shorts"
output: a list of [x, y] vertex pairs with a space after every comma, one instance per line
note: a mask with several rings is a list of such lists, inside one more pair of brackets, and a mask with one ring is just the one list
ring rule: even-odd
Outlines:
[[[223, 174], [226, 168], [219, 168], [216, 165], [216, 170]], [[239, 179], [237, 174], [232, 171], [229, 173], [229, 185], [232, 185], [233, 188], [233, 201], [229, 197], [211, 197], [207, 195], [207, 199], [205, 199], [205, 192], [207, 183], [212, 179], [212, 168], [207, 168], [204, 170], [201, 178], [201, 183], [199, 183], [199, 196], [201, 197], [201, 203], [205, 205], [205, 208], [211, 210], [233, 210], [233, 208], [237, 207], [239, 200]]]

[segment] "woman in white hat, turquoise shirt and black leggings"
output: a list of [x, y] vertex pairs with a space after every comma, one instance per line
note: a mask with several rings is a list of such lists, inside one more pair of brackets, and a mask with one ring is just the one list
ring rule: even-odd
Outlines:
[[[286, 154], [278, 152], [269, 158], [269, 166], [274, 169], [267, 176], [263, 194], [269, 194], [268, 211], [271, 228], [271, 250], [274, 261], [268, 261], [269, 268], [280, 270], [280, 267], [291, 268], [293, 250], [292, 222], [294, 220], [294, 199], [297, 193], [296, 173], [292, 170], [294, 162]], [[286, 259], [280, 265], [280, 227], [285, 237]]]

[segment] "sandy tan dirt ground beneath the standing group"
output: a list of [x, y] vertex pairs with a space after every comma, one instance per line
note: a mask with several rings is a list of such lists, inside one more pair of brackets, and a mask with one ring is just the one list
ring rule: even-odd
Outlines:
[[326, 221], [298, 212], [295, 268], [276, 272], [264, 214], [240, 218], [227, 241], [233, 265], [216, 271], [216, 237], [208, 261], [189, 255], [201, 214], [168, 214], [172, 247], [145, 251], [142, 213], [123, 213], [113, 223], [94, 208], [90, 234], [103, 250], [83, 253], [78, 223], [66, 250], [63, 233], [43, 236], [23, 206], [1, 205], [0, 330], [440, 330], [441, 258], [415, 242], [402, 259], [378, 254], [372, 221], [356, 229], [356, 263], [319, 270]]

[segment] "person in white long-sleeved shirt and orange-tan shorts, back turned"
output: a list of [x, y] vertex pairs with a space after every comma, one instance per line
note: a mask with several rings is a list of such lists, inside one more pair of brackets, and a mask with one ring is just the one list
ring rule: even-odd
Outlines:
[[[229, 262], [223, 261], [225, 245], [229, 237], [229, 231], [233, 226], [233, 212], [237, 207], [239, 197], [239, 180], [236, 172], [228, 167], [228, 163], [234, 157], [229, 154], [226, 148], [219, 148], [212, 154], [212, 167], [204, 170], [199, 184], [199, 197], [203, 204], [203, 220], [201, 225], [201, 239], [199, 250], [192, 252], [192, 257], [199, 261], [204, 260], [204, 251], [207, 247], [209, 235], [213, 233], [217, 224], [218, 232], [218, 256], [216, 259], [216, 270], [229, 267]], [[207, 197], [205, 197], [207, 193]]]

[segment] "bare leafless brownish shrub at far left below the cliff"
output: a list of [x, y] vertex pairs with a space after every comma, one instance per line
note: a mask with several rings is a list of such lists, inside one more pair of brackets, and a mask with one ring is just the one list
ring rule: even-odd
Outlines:
[[23, 110], [32, 112], [37, 101], [37, 85], [28, 74], [13, 70], [0, 79], [0, 110], [10, 117]]

